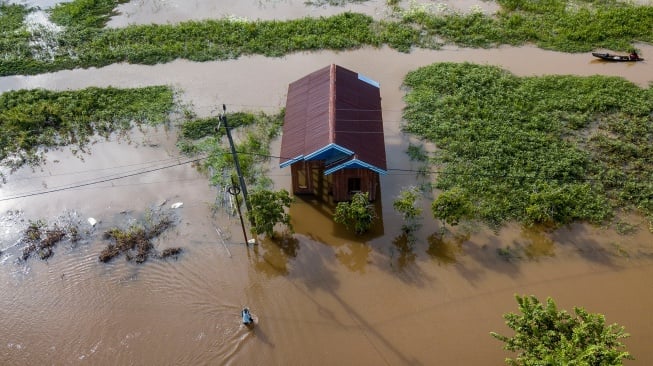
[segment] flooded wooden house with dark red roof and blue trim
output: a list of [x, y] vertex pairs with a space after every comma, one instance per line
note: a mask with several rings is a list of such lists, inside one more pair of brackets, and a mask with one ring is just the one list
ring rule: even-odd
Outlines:
[[280, 166], [290, 166], [296, 195], [375, 200], [387, 172], [379, 83], [335, 64], [292, 82]]

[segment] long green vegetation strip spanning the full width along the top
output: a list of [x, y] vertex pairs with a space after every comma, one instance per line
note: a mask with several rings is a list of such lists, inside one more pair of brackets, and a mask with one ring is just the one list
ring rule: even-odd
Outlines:
[[286, 21], [216, 19], [166, 25], [104, 25], [124, 0], [75, 0], [51, 11], [65, 29], [54, 38], [47, 59], [35, 57], [33, 35], [22, 26], [27, 9], [0, 5], [0, 76], [36, 74], [116, 62], [156, 64], [177, 58], [225, 60], [242, 55], [271, 57], [310, 50], [346, 50], [387, 44], [399, 51], [533, 43], [583, 52], [596, 48], [625, 51], [634, 42], [653, 42], [653, 6], [616, 0], [498, 0], [497, 14], [459, 13], [413, 6], [394, 9], [393, 20], [375, 21], [355, 13]]

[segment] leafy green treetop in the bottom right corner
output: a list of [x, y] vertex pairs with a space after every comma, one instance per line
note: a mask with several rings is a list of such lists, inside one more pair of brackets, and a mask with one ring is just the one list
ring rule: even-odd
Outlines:
[[508, 365], [622, 365], [633, 359], [620, 339], [629, 334], [617, 324], [606, 326], [602, 314], [590, 314], [574, 308], [574, 314], [559, 311], [548, 298], [546, 304], [535, 296], [515, 296], [522, 314], [504, 314], [506, 324], [515, 331], [513, 337], [490, 334], [505, 342], [504, 349], [518, 352]]

